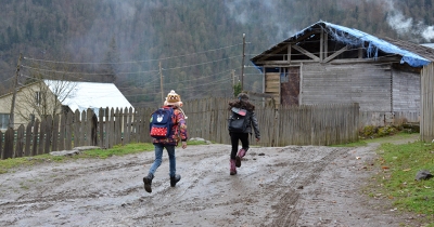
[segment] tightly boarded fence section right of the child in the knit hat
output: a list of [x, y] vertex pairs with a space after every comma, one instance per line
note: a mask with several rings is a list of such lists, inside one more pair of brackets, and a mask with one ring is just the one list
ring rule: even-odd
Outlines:
[[[190, 137], [202, 137], [230, 144], [227, 98], [189, 102], [183, 108], [188, 116]], [[358, 104], [261, 107], [256, 104], [260, 141], [252, 145], [332, 145], [358, 141]], [[254, 136], [254, 134], [253, 134]], [[254, 137], [253, 137], [254, 138]]]

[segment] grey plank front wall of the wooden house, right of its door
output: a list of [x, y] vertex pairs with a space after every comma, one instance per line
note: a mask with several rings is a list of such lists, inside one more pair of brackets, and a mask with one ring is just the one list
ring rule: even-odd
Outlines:
[[304, 105], [358, 103], [360, 110], [392, 111], [391, 70], [369, 64], [304, 64]]

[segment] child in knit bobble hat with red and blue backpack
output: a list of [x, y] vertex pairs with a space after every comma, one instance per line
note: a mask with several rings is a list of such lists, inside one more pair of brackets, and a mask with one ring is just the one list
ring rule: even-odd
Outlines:
[[175, 187], [181, 179], [181, 176], [176, 174], [175, 156], [175, 147], [178, 146], [179, 141], [182, 143], [182, 148], [187, 148], [187, 117], [181, 107], [181, 96], [171, 90], [164, 102], [164, 106], [151, 116], [150, 134], [153, 137], [152, 143], [155, 147], [155, 160], [149, 170], [148, 176], [143, 177], [144, 189], [150, 193], [152, 192], [151, 185], [155, 171], [162, 164], [164, 148], [166, 148], [169, 156], [170, 186]]

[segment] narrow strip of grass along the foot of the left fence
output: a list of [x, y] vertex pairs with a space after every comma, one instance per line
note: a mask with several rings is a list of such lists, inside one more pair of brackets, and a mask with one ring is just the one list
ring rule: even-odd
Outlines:
[[[188, 142], [188, 146], [192, 145], [204, 145], [205, 142]], [[180, 148], [181, 145], [177, 147]], [[85, 159], [85, 158], [94, 158], [94, 159], [106, 159], [112, 156], [125, 156], [130, 153], [138, 153], [144, 151], [153, 151], [154, 145], [151, 143], [137, 143], [137, 144], [127, 144], [125, 146], [116, 145], [111, 149], [92, 149], [80, 152], [76, 156], [51, 156], [49, 153], [34, 156], [34, 157], [23, 157], [23, 158], [14, 158], [14, 159], [5, 159], [0, 160], [0, 174], [8, 173], [9, 171], [14, 171], [15, 168], [18, 166], [31, 166], [40, 163], [47, 162], [64, 162], [74, 159]]]

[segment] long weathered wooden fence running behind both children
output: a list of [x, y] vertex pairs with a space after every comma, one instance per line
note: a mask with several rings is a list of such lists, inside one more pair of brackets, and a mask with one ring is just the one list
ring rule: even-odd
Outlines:
[[[186, 112], [189, 137], [230, 144], [227, 130], [229, 98], [189, 101]], [[151, 142], [149, 118], [155, 108], [108, 109], [95, 116], [91, 109], [36, 120], [14, 131], [0, 132], [1, 159], [48, 153], [78, 146]], [[358, 104], [263, 107], [256, 104], [258, 146], [332, 145], [358, 141]]]

